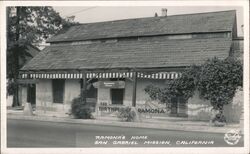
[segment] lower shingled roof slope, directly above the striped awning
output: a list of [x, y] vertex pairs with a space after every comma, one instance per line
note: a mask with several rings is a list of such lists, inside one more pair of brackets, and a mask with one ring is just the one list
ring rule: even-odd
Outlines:
[[118, 41], [45, 48], [22, 70], [181, 67], [229, 55], [231, 38]]

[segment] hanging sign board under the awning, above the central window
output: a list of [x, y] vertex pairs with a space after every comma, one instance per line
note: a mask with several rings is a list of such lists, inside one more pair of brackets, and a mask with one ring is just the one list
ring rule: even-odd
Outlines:
[[124, 81], [98, 81], [93, 83], [95, 88], [114, 88], [114, 89], [122, 89], [125, 88]]

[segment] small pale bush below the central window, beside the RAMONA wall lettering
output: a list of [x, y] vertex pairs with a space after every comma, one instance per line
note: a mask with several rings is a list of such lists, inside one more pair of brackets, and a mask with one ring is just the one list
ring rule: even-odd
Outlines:
[[119, 110], [118, 118], [120, 118], [122, 121], [130, 122], [134, 121], [135, 116], [136, 116], [135, 112], [131, 111], [130, 107], [126, 107], [126, 108], [121, 108]]

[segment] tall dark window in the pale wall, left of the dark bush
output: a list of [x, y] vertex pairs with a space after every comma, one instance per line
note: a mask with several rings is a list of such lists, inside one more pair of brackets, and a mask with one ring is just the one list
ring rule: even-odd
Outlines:
[[53, 102], [54, 103], [63, 103], [64, 86], [65, 86], [65, 80], [63, 80], [63, 79], [52, 80]]

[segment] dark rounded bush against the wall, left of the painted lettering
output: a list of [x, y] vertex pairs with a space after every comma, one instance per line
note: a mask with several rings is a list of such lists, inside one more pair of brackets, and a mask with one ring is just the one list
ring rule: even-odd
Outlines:
[[81, 97], [74, 98], [71, 103], [71, 114], [76, 119], [91, 119], [91, 107], [82, 101]]

